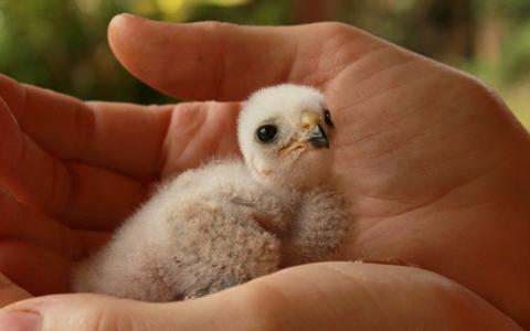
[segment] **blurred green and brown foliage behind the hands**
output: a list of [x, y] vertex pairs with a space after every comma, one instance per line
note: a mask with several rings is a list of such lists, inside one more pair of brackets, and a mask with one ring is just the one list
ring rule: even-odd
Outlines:
[[463, 68], [530, 128], [529, 0], [0, 0], [0, 72], [84, 99], [166, 103], [112, 55], [117, 13], [163, 21], [337, 20]]

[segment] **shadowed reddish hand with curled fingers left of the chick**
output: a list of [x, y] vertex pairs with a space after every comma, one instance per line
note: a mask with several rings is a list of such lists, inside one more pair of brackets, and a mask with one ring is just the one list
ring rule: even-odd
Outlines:
[[0, 270], [33, 295], [67, 291], [153, 181], [236, 152], [236, 111], [82, 103], [0, 76]]

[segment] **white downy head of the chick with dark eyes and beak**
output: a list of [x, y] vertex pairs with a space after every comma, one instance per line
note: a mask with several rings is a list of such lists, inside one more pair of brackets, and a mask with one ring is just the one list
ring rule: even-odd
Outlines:
[[239, 118], [240, 148], [262, 183], [306, 190], [329, 180], [333, 121], [324, 95], [284, 84], [255, 92]]

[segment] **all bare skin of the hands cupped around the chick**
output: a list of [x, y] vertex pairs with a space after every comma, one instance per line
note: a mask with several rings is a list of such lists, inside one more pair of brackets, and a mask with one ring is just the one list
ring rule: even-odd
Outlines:
[[[337, 125], [335, 170], [352, 214], [338, 259], [421, 268], [305, 265], [172, 303], [39, 297], [2, 310], [0, 327], [22, 316], [42, 330], [530, 328], [530, 139], [479, 82], [336, 23], [119, 15], [109, 41], [136, 77], [199, 102], [82, 103], [0, 78], [0, 270], [17, 285], [64, 291], [73, 263], [152, 181], [236, 151], [237, 102], [282, 82], [320, 88]], [[29, 297], [1, 290], [3, 303]]]

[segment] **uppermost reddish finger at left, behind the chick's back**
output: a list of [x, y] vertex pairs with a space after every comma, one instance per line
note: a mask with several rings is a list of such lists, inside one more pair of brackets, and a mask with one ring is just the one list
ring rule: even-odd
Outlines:
[[171, 106], [82, 103], [2, 75], [0, 96], [21, 130], [61, 159], [135, 175], [158, 173]]

